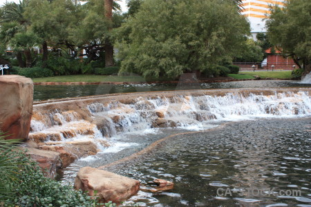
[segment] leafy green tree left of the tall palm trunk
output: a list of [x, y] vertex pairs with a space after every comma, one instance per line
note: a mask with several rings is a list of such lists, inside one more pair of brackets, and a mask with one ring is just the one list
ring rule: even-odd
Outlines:
[[48, 45], [50, 47], [62, 47], [74, 50], [68, 41], [68, 27], [75, 25], [78, 6], [70, 0], [30, 0], [25, 9], [24, 16], [31, 22], [29, 29], [41, 38], [43, 49], [42, 67], [48, 60]]

